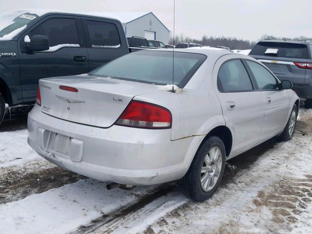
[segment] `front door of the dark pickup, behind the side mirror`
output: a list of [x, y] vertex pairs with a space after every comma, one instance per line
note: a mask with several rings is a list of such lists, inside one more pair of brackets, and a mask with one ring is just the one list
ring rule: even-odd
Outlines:
[[[36, 100], [41, 78], [83, 74], [88, 71], [80, 19], [74, 16], [48, 16], [27, 30], [19, 39], [20, 76], [24, 102]], [[29, 52], [25, 42], [34, 35], [49, 39], [49, 50]]]

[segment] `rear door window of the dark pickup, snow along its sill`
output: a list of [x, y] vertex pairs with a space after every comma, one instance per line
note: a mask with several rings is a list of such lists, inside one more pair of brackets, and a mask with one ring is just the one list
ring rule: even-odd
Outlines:
[[91, 47], [116, 48], [120, 46], [118, 30], [115, 24], [85, 21], [90, 37]]

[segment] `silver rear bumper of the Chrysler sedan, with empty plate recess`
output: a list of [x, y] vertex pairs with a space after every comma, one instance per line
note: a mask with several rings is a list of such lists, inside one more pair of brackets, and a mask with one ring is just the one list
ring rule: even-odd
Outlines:
[[[71, 151], [52, 154], [45, 147], [44, 131], [83, 142], [81, 160], [70, 155]], [[28, 115], [28, 144], [40, 156], [75, 173], [121, 184], [151, 185], [185, 175], [188, 168], [183, 161], [192, 137], [171, 141], [170, 134], [171, 129], [115, 125], [103, 129], [72, 123], [42, 113], [38, 105]], [[79, 152], [77, 147], [74, 152]]]

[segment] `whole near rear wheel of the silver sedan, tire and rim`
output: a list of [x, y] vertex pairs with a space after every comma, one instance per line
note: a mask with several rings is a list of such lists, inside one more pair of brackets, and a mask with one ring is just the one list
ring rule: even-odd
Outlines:
[[[217, 157], [213, 158], [214, 155]], [[209, 137], [199, 147], [188, 172], [180, 180], [184, 195], [194, 201], [212, 197], [223, 177], [225, 155], [223, 141], [219, 137]], [[202, 184], [201, 180], [206, 182]]]

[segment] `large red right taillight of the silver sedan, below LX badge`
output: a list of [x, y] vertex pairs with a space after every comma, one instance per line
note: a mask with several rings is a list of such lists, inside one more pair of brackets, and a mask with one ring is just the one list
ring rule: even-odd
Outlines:
[[149, 129], [171, 128], [171, 123], [172, 116], [168, 109], [134, 100], [116, 121], [116, 124], [121, 126]]

